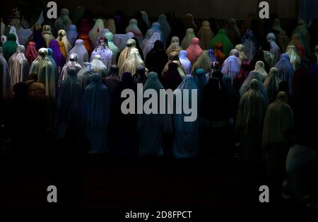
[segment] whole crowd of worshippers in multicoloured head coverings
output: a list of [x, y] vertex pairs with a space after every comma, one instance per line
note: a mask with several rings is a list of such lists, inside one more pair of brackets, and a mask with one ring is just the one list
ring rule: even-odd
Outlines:
[[[314, 168], [317, 19], [310, 28], [298, 21], [288, 35], [279, 18], [249, 18], [240, 28], [230, 18], [221, 28], [213, 16], [198, 27], [191, 14], [183, 22], [160, 14], [151, 24], [141, 11], [125, 24], [121, 14], [89, 12], [78, 7], [71, 20], [64, 8], [56, 21], [39, 19], [33, 29], [16, 18], [1, 23], [1, 93], [12, 150], [43, 148], [48, 134], [62, 139], [81, 129], [77, 139], [86, 137], [89, 153], [239, 153], [241, 160], [266, 160], [272, 175], [287, 169], [290, 183], [302, 165]], [[122, 90], [136, 91], [138, 83], [157, 92], [198, 90], [198, 118], [124, 115]], [[302, 182], [312, 178], [312, 170], [299, 171]]]

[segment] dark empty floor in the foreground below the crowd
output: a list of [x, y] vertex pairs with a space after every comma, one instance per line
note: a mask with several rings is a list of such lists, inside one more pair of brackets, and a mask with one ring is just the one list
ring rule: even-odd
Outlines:
[[[0, 157], [0, 209], [288, 209], [271, 193], [262, 165], [201, 158]], [[47, 203], [47, 187], [57, 186], [57, 204]], [[259, 203], [268, 185], [270, 203]], [[273, 197], [276, 196], [276, 197]], [[279, 196], [279, 195], [278, 195]]]

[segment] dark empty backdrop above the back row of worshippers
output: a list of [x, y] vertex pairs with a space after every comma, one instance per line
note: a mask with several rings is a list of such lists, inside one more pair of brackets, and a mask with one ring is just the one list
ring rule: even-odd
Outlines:
[[[31, 0], [31, 1], [2, 1], [2, 6], [8, 8], [16, 6], [20, 3], [28, 2], [29, 4], [47, 5], [47, 0]], [[37, 3], [36, 3], [37, 2]], [[192, 13], [196, 18], [207, 18], [213, 14], [216, 18], [237, 19], [245, 18], [249, 13], [259, 13], [260, 0], [78, 0], [65, 1], [56, 0], [57, 6], [66, 7], [72, 11], [76, 6], [83, 6], [92, 11], [98, 7], [102, 7], [105, 11], [112, 15], [118, 10], [124, 11], [126, 16], [133, 15], [135, 11], [146, 11], [148, 16], [158, 16], [160, 13], [175, 12], [176, 17], [183, 17], [187, 13]], [[270, 13], [278, 13], [281, 18], [295, 18], [298, 14], [298, 0], [269, 0]]]

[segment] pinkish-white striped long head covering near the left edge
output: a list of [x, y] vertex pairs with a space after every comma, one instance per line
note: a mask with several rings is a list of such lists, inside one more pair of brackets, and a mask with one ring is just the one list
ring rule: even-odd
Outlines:
[[16, 83], [24, 82], [28, 79], [30, 64], [24, 55], [25, 47], [18, 45], [16, 53], [8, 60], [8, 68], [11, 78], [11, 87]]

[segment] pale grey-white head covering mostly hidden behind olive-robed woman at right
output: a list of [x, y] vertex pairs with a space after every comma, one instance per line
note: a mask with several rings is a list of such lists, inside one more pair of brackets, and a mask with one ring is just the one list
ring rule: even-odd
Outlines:
[[268, 105], [269, 99], [268, 99], [267, 91], [264, 84], [261, 82], [261, 77], [259, 76], [259, 73], [257, 71], [251, 71], [249, 73], [249, 76], [247, 76], [247, 78], [245, 79], [244, 83], [242, 84], [240, 88], [240, 98], [242, 98], [243, 95], [247, 93], [247, 91], [250, 89], [251, 82], [253, 80], [257, 80], [259, 82], [258, 84], [259, 91], [261, 95], [263, 95], [264, 103]]

